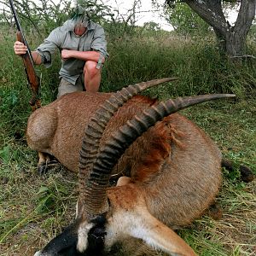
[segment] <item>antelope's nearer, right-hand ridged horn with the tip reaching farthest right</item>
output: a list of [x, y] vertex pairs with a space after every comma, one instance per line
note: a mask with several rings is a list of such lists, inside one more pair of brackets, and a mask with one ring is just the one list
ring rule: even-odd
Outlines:
[[[125, 152], [125, 149], [137, 137], [140, 137], [144, 131], [147, 131], [150, 126], [155, 125], [160, 119], [183, 108], [188, 108], [201, 102], [234, 96], [230, 94], [216, 94], [167, 100], [166, 102], [160, 102], [157, 106], [152, 106], [144, 110], [143, 113], [137, 114], [133, 119], [128, 120], [125, 125], [121, 126], [110, 137], [97, 156], [83, 191], [84, 198], [86, 198], [84, 211], [90, 215], [105, 212], [106, 208], [102, 207], [100, 209], [99, 207], [108, 205], [106, 189], [108, 188], [108, 181], [113, 166], [115, 166], [119, 157]], [[94, 212], [95, 209], [97, 209], [96, 212]]]

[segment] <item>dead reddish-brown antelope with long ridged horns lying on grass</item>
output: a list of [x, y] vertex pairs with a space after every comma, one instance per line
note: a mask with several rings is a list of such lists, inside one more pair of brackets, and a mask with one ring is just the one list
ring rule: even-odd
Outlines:
[[[115, 94], [68, 94], [32, 113], [29, 146], [79, 170], [74, 224], [35, 255], [107, 255], [119, 243], [130, 247], [125, 255], [140, 255], [134, 238], [170, 255], [195, 255], [173, 230], [212, 204], [222, 158], [211, 138], [176, 112], [232, 95], [157, 104], [134, 96], [147, 88], [141, 85]], [[115, 174], [117, 186], [109, 187]]]

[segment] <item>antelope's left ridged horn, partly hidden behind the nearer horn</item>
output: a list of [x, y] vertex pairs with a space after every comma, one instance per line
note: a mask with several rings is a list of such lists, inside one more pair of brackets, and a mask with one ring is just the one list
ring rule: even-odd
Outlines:
[[[100, 139], [102, 133], [108, 124], [109, 119], [113, 116], [113, 113], [118, 110], [125, 102], [131, 99], [132, 96], [136, 96], [139, 92], [153, 87], [157, 84], [177, 80], [178, 78], [165, 78], [154, 79], [148, 82], [139, 84], [132, 84], [128, 87], [119, 90], [113, 96], [110, 96], [102, 106], [96, 110], [96, 113], [91, 117], [88, 123], [83, 138], [82, 148], [80, 150], [79, 158], [79, 191], [84, 190], [84, 181], [91, 171], [96, 155], [98, 153]], [[80, 193], [79, 199], [84, 201], [83, 193]], [[108, 207], [107, 205], [105, 207]], [[102, 207], [100, 207], [102, 209]], [[96, 208], [95, 208], [96, 212]]]

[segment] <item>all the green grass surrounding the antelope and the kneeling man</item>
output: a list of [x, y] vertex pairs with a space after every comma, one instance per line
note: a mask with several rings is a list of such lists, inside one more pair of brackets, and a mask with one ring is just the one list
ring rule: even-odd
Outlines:
[[[102, 72], [102, 91], [177, 76], [177, 82], [144, 94], [160, 99], [212, 92], [237, 94], [236, 100], [183, 110], [207, 131], [225, 157], [235, 161], [236, 169], [223, 170], [217, 198], [223, 217], [203, 216], [178, 234], [199, 255], [255, 255], [256, 183], [243, 183], [238, 172], [239, 164], [244, 163], [256, 174], [255, 62], [225, 61], [211, 38], [206, 42], [176, 37], [108, 40], [110, 57]], [[38, 176], [37, 153], [26, 146], [31, 95], [20, 58], [13, 53], [15, 36], [0, 35], [0, 41], [0, 255], [32, 255], [72, 222], [78, 177], [61, 166]], [[31, 43], [38, 45], [34, 40]], [[44, 105], [55, 98], [58, 68], [57, 56], [50, 69], [37, 67], [42, 73]]]

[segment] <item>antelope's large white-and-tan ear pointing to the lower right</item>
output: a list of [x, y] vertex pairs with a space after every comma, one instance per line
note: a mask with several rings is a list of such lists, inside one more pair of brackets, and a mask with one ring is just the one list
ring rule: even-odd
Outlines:
[[[149, 212], [143, 211], [143, 214], [133, 216], [130, 236], [143, 239], [149, 246], [159, 248], [170, 255], [196, 255], [194, 250], [183, 241], [180, 236], [162, 224], [157, 218], [154, 218]], [[131, 225], [131, 223], [130, 223]]]

